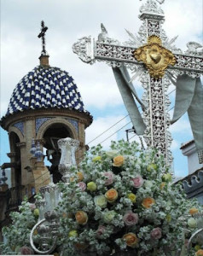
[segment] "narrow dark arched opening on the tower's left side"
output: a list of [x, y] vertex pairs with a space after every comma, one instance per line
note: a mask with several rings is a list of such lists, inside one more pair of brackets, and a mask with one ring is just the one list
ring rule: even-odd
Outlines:
[[20, 143], [20, 138], [12, 131], [9, 134], [9, 141], [11, 152], [14, 152], [14, 160], [12, 160], [12, 163], [14, 163], [14, 184], [17, 187], [21, 185], [20, 147], [17, 146], [17, 144]]

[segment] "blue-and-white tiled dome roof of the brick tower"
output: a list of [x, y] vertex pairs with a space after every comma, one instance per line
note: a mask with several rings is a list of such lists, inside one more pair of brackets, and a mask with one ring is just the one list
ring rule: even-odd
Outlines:
[[58, 67], [35, 67], [16, 85], [7, 114], [38, 108], [71, 108], [84, 110], [74, 80]]

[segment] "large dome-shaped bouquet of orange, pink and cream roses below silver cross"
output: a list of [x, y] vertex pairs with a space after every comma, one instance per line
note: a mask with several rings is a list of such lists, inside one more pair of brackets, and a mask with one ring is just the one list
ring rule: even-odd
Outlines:
[[164, 256], [181, 250], [178, 218], [198, 203], [171, 183], [154, 149], [125, 141], [113, 142], [111, 151], [98, 145], [72, 172], [68, 186], [59, 184], [63, 255]]

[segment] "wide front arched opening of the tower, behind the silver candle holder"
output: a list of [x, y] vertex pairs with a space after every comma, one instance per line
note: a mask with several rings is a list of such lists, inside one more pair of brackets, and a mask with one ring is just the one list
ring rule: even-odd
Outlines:
[[49, 166], [50, 174], [53, 175], [53, 182], [58, 183], [61, 180], [61, 173], [58, 171], [58, 165], [61, 159], [61, 152], [58, 148], [58, 140], [65, 137], [73, 137], [68, 127], [64, 124], [56, 123], [50, 125], [44, 132], [44, 148], [46, 148], [46, 158], [51, 163]]

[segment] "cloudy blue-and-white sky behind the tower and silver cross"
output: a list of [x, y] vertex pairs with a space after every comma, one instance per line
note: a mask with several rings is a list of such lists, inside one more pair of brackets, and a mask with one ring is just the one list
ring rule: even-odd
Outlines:
[[[45, 26], [49, 27], [46, 35], [49, 64], [73, 76], [85, 108], [94, 117], [93, 124], [86, 129], [86, 143], [90, 147], [102, 143], [107, 148], [111, 140], [126, 138], [125, 130], [131, 128], [131, 124], [128, 124], [130, 119], [125, 118], [127, 111], [111, 67], [102, 62], [85, 64], [73, 53], [72, 46], [84, 36], [97, 38], [101, 32], [101, 23], [106, 26], [111, 38], [127, 41], [129, 37], [125, 29], [136, 33], [141, 25], [138, 15], [143, 2], [146, 1], [1, 0], [0, 116], [6, 113], [15, 85], [39, 64], [41, 40], [38, 39], [38, 33], [41, 20], [44, 20]], [[168, 38], [178, 35], [177, 48], [186, 50], [189, 41], [202, 44], [201, 0], [165, 0], [161, 8], [165, 12], [166, 35]], [[138, 95], [142, 96], [140, 82], [136, 80], [133, 83]], [[172, 90], [174, 87], [171, 85], [169, 92]], [[173, 108], [175, 91], [171, 92], [170, 98], [170, 108]], [[7, 131], [0, 130], [2, 165], [3, 162], [9, 162], [6, 155], [9, 153], [9, 137]], [[107, 132], [100, 136], [104, 131]], [[181, 143], [193, 138], [187, 114], [171, 125], [170, 131], [173, 137], [171, 150], [174, 172], [183, 177], [188, 173], [187, 157], [183, 156], [179, 148]], [[133, 133], [129, 137], [130, 141], [139, 140]]]

